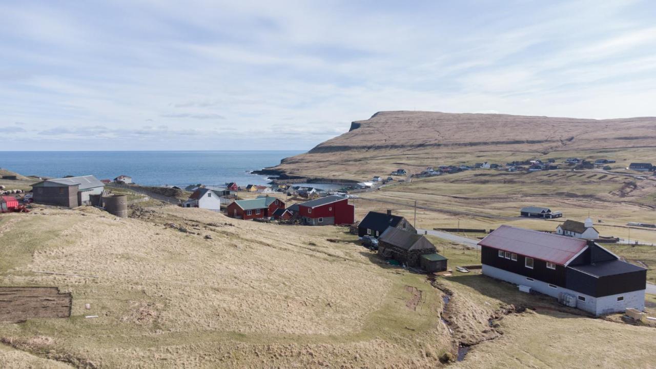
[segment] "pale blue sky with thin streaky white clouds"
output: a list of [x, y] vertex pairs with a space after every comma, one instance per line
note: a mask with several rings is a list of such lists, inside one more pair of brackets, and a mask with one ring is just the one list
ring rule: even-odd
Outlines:
[[654, 19], [652, 0], [0, 0], [0, 150], [308, 150], [383, 110], [656, 116]]

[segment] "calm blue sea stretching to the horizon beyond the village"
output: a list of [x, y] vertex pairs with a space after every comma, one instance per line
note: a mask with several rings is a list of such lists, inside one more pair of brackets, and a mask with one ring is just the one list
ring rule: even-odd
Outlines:
[[0, 167], [22, 175], [64, 177], [92, 174], [98, 179], [129, 175], [140, 185], [265, 185], [249, 171], [270, 167], [301, 151], [4, 151]]

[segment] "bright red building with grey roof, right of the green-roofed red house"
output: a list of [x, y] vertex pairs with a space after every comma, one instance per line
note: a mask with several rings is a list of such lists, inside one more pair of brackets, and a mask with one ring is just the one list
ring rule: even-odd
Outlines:
[[326, 196], [298, 204], [298, 214], [304, 225], [353, 224], [356, 207], [348, 204], [348, 198]]

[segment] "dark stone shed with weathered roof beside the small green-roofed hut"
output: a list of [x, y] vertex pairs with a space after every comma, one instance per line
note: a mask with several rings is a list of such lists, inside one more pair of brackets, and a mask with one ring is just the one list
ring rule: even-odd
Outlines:
[[[388, 227], [378, 238], [378, 254], [385, 259], [394, 259], [407, 267], [421, 267], [422, 255], [436, 253], [435, 246], [416, 231]], [[443, 267], [446, 269], [446, 263]]]

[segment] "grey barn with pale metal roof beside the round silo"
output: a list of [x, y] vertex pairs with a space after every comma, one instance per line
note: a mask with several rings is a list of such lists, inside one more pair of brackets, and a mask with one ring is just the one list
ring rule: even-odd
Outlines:
[[76, 207], [91, 204], [91, 195], [100, 195], [104, 183], [92, 175], [47, 179], [32, 185], [33, 200], [37, 204]]

